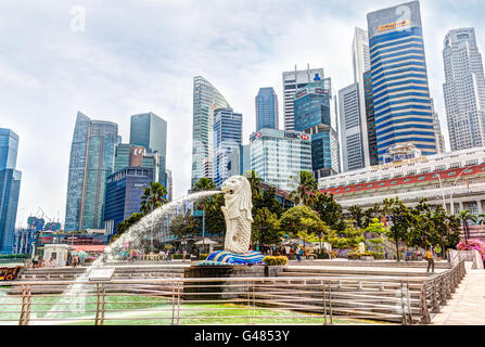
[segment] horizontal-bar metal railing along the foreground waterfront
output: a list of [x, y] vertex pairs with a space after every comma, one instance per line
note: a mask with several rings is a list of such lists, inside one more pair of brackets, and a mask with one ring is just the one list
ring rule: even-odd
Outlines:
[[[12, 309], [0, 312], [0, 322], [17, 321], [18, 324], [25, 325], [31, 322], [86, 322], [93, 319], [95, 324], [104, 324], [106, 321], [132, 319], [124, 317], [124, 314], [130, 316], [136, 312], [137, 320], [159, 320], [168, 324], [181, 324], [191, 319], [210, 321], [221, 317], [231, 323], [233, 322], [232, 318], [242, 318], [241, 316], [231, 316], [231, 310], [234, 310], [234, 313], [247, 310], [247, 323], [254, 324], [258, 319], [273, 317], [261, 311], [269, 307], [271, 311], [280, 312], [281, 314], [278, 316], [280, 318], [316, 320], [323, 324], [329, 321], [332, 324], [335, 314], [346, 319], [372, 319], [403, 324], [429, 323], [431, 320], [429, 307], [439, 308], [443, 306], [464, 273], [464, 262], [460, 261], [451, 269], [431, 277], [191, 279], [173, 277], [114, 279], [103, 283], [90, 282], [86, 279], [77, 281], [14, 281], [2, 283], [3, 287], [0, 291], [7, 291], [11, 294], [10, 297], [20, 298], [22, 303], [4, 303]], [[95, 303], [86, 304], [94, 305], [94, 307], [92, 309], [86, 307], [84, 314], [79, 317], [40, 317], [39, 314], [48, 311], [41, 305], [52, 305], [60, 313], [73, 312], [60, 307], [59, 303], [52, 304], [43, 299], [50, 295], [36, 294], [49, 291], [59, 292], [72, 284], [79, 284], [84, 287], [79, 293], [84, 293], [86, 299], [97, 297]], [[216, 292], [217, 288], [221, 291]], [[88, 291], [90, 293], [87, 293]], [[399, 291], [400, 294], [397, 295], [396, 291]], [[111, 295], [124, 296], [128, 300], [116, 301], [110, 298]], [[151, 300], [130, 299], [139, 295], [151, 297]], [[0, 298], [4, 296], [0, 296]], [[133, 311], [129, 307], [135, 304], [153, 305], [154, 307], [141, 307]], [[189, 304], [194, 306], [187, 306]], [[210, 305], [214, 304], [231, 306], [212, 307]], [[18, 310], [15, 310], [15, 307]], [[220, 310], [221, 314], [210, 314], [217, 310]], [[201, 312], [197, 313], [197, 311]], [[20, 314], [20, 319], [2, 317], [2, 314], [14, 314], [15, 312]], [[37, 317], [33, 318], [33, 312]], [[156, 312], [166, 312], [169, 316], [153, 314]], [[190, 312], [192, 313], [188, 314]], [[228, 314], [224, 314], [224, 312]], [[314, 316], [303, 312], [311, 312]], [[95, 317], [90, 318], [90, 314], [93, 313]], [[278, 323], [281, 322], [278, 321]]]

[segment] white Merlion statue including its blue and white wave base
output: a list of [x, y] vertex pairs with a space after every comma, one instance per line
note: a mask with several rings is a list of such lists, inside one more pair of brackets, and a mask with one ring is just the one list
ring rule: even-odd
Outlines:
[[207, 259], [199, 265], [260, 264], [265, 256], [259, 252], [250, 252], [253, 223], [250, 181], [243, 176], [232, 176], [222, 183], [221, 190], [226, 200], [226, 206], [221, 207], [226, 219], [224, 250], [210, 253]]

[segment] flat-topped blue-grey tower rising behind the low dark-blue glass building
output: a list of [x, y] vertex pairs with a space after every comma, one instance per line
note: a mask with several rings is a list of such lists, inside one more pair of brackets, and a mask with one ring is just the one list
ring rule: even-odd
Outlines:
[[142, 146], [148, 153], [157, 153], [159, 171], [156, 180], [166, 188], [167, 121], [151, 112], [131, 116], [130, 144]]

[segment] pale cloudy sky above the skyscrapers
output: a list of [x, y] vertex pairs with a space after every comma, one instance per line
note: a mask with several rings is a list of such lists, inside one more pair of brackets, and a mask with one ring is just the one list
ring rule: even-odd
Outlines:
[[[283, 125], [282, 72], [322, 67], [333, 89], [353, 83], [352, 41], [368, 12], [392, 0], [43, 0], [0, 2], [0, 127], [20, 136], [17, 226], [64, 221], [71, 141], [78, 111], [118, 124], [130, 115], [168, 123], [174, 196], [190, 188], [193, 77], [208, 79], [255, 130], [254, 98], [273, 87]], [[485, 50], [480, 0], [421, 0], [431, 95], [449, 140], [443, 40], [474, 27]], [[39, 208], [40, 207], [40, 208]]]

